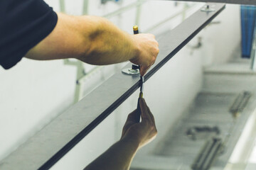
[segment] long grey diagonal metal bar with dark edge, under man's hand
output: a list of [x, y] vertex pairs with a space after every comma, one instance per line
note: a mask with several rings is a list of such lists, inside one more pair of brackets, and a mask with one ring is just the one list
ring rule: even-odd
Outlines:
[[[145, 82], [224, 8], [225, 4], [215, 4], [213, 12], [198, 10], [169, 33], [156, 37], [160, 52], [145, 75]], [[120, 70], [3, 159], [0, 169], [50, 169], [138, 88], [139, 77], [122, 74]]]

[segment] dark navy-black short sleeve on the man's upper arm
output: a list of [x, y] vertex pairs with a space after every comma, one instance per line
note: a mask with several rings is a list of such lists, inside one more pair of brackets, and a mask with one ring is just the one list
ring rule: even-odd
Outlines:
[[0, 0], [0, 65], [13, 67], [50, 34], [57, 20], [43, 0]]

